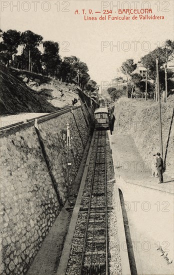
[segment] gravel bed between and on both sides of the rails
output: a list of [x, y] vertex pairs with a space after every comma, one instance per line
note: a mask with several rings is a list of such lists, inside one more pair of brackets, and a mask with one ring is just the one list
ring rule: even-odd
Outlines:
[[[90, 189], [93, 176], [93, 188], [91, 196], [91, 208], [105, 207], [105, 164], [104, 164], [104, 135], [98, 140], [96, 163], [95, 153], [97, 145], [98, 132], [96, 132], [93, 142], [91, 157], [89, 161], [87, 176], [85, 180], [84, 190], [81, 199], [81, 205], [88, 207], [90, 200]], [[106, 180], [107, 182], [113, 178], [111, 151], [109, 140], [106, 133]], [[113, 183], [107, 183], [107, 205], [112, 205], [113, 201]], [[87, 222], [87, 212], [78, 213], [75, 232], [72, 240], [66, 275], [78, 275], [80, 270], [84, 234]], [[87, 224], [87, 234], [85, 243], [85, 253], [103, 251], [103, 254], [84, 254], [83, 264], [105, 263], [105, 213], [89, 212], [89, 222]], [[94, 242], [92, 243], [92, 240]], [[119, 242], [117, 237], [116, 216], [114, 212], [107, 212], [107, 240], [108, 240], [108, 266], [109, 275], [121, 275], [121, 263], [119, 255]], [[102, 267], [105, 268], [105, 267]], [[103, 273], [104, 274], [104, 273]]]

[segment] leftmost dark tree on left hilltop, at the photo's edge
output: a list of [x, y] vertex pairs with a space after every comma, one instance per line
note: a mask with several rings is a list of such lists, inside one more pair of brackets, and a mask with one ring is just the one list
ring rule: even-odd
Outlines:
[[13, 55], [17, 53], [17, 47], [20, 44], [20, 31], [15, 29], [8, 29], [7, 31], [0, 31], [0, 35], [3, 39], [0, 46], [1, 56], [7, 59], [7, 65], [9, 67], [9, 60], [13, 65]]

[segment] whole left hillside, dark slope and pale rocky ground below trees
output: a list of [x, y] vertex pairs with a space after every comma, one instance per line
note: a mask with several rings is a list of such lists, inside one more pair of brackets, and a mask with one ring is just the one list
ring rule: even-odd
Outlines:
[[0, 64], [0, 113], [51, 112], [80, 104], [81, 89], [41, 74]]

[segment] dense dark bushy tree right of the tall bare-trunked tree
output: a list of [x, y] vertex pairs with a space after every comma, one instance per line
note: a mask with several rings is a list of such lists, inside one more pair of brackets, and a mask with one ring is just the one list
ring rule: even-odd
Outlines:
[[51, 76], [57, 75], [57, 68], [61, 60], [58, 54], [58, 43], [53, 41], [44, 41], [43, 48], [44, 53], [42, 60], [46, 69], [46, 74]]

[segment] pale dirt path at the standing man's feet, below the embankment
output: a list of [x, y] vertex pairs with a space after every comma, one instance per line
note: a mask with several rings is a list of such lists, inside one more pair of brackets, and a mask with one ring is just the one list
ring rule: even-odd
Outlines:
[[111, 139], [116, 174], [127, 182], [173, 193], [173, 179], [164, 172], [164, 183], [158, 184], [159, 178], [151, 177], [151, 163], [143, 161], [130, 135], [113, 133]]

